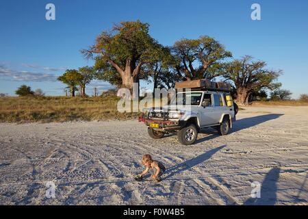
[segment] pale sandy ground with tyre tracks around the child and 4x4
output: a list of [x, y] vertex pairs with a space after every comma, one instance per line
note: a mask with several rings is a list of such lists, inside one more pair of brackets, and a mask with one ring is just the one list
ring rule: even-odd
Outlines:
[[[136, 120], [0, 124], [1, 205], [308, 204], [308, 107], [248, 107], [232, 133], [206, 129], [192, 146], [152, 140]], [[161, 183], [136, 182], [150, 153]], [[55, 198], [45, 183], [53, 181]], [[261, 198], [251, 198], [251, 183]]]

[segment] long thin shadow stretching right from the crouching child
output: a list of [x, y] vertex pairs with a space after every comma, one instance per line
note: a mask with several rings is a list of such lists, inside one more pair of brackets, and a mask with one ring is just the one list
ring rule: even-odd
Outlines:
[[198, 157], [194, 157], [188, 161], [185, 161], [181, 164], [177, 164], [175, 166], [172, 166], [171, 168], [168, 168], [164, 175], [164, 179], [168, 179], [172, 177], [173, 175], [178, 174], [179, 172], [183, 172], [185, 170], [188, 170], [198, 164], [201, 164], [205, 162], [207, 159], [209, 159], [212, 155], [214, 155], [216, 152], [220, 151], [223, 149], [226, 145], [219, 146], [216, 149], [211, 149], [210, 151], [207, 151], [206, 153], [203, 153], [201, 155], [198, 155]]

